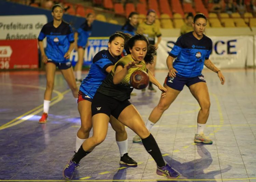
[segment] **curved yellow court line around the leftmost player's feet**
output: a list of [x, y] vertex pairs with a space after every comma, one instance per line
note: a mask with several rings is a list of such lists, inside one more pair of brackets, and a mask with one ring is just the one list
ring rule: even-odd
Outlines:
[[[45, 90], [44, 87], [40, 87], [40, 86], [33, 86], [33, 85], [22, 85], [22, 84], [5, 84], [5, 83], [0, 83], [0, 85], [8, 85], [8, 86], [17, 86], [17, 87], [28, 87], [28, 88], [37, 88], [37, 89], [43, 89]], [[63, 99], [63, 95], [65, 95], [66, 93], [68, 93], [70, 91], [70, 89], [64, 91], [64, 92], [59, 92], [56, 90], [53, 90], [54, 93], [57, 94], [57, 96], [55, 96], [53, 99], [51, 99], [51, 104], [50, 106], [58, 103], [59, 101], [61, 101]], [[15, 119], [13, 119], [12, 121], [5, 123], [4, 125], [0, 126], [0, 130], [3, 130], [5, 128], [9, 128], [12, 127], [14, 125], [17, 125], [19, 123], [22, 123], [26, 120], [28, 120], [29, 118], [31, 118], [33, 115], [41, 112], [43, 110], [43, 104], [41, 104], [40, 106], [35, 107], [34, 109], [29, 110], [28, 112], [16, 117]], [[33, 112], [34, 111], [34, 112]], [[32, 113], [33, 112], [33, 113]], [[28, 115], [29, 114], [29, 115]], [[25, 116], [25, 117], [24, 117]], [[23, 119], [21, 119], [22, 117], [24, 117]], [[18, 120], [18, 121], [17, 121]]]

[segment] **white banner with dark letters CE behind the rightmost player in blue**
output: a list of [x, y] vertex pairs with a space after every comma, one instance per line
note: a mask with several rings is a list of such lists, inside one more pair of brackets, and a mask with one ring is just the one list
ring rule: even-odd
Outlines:
[[[211, 36], [212, 54], [210, 60], [216, 67], [245, 68], [254, 65], [253, 36]], [[162, 37], [157, 49], [157, 69], [167, 69], [166, 58], [177, 37]]]

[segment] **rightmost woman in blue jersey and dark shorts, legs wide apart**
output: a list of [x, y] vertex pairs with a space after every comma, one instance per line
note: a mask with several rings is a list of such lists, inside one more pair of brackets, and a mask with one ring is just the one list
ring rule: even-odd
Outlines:
[[[169, 74], [164, 85], [167, 88], [167, 94], [165, 98], [160, 98], [158, 105], [151, 112], [146, 123], [148, 130], [160, 119], [163, 112], [169, 108], [186, 85], [201, 107], [197, 117], [197, 132], [194, 142], [212, 144], [212, 140], [203, 134], [210, 113], [210, 96], [202, 75], [203, 66], [205, 65], [217, 73], [222, 85], [225, 83], [225, 78], [221, 70], [216, 68], [209, 59], [212, 40], [203, 34], [206, 25], [206, 17], [203, 14], [197, 14], [193, 20], [194, 31], [177, 39], [167, 58]], [[176, 60], [173, 62], [174, 58]], [[140, 142], [141, 139], [139, 136], [134, 136], [134, 141]]]

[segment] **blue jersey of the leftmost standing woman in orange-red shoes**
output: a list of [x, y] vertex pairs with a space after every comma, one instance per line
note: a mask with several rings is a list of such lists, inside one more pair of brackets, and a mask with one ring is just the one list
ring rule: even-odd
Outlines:
[[69, 59], [66, 59], [64, 55], [68, 52], [70, 43], [74, 42], [71, 26], [64, 21], [57, 28], [53, 26], [53, 21], [46, 23], [38, 36], [38, 40], [42, 41], [45, 37], [47, 38], [45, 54], [48, 59], [60, 63], [69, 62]]

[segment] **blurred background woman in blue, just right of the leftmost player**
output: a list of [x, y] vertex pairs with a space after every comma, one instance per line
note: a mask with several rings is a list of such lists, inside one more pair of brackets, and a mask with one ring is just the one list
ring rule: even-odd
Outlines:
[[75, 32], [75, 50], [78, 53], [78, 60], [74, 67], [75, 78], [77, 82], [82, 82], [82, 66], [84, 62], [84, 51], [88, 42], [89, 36], [91, 36], [92, 24], [94, 21], [94, 15], [88, 13], [85, 22]]

